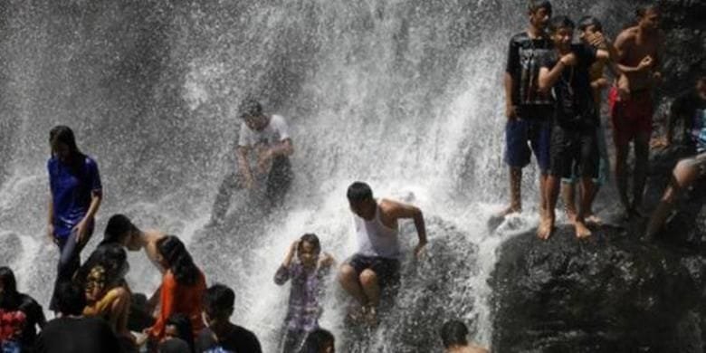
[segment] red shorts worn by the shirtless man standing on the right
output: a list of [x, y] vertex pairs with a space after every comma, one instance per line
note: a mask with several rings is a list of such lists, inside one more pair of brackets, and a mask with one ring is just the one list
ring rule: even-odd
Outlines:
[[638, 133], [652, 134], [652, 115], [654, 113], [652, 96], [648, 91], [635, 94], [628, 100], [621, 100], [617, 88], [608, 94], [610, 117], [613, 122], [613, 138], [616, 145], [624, 145]]

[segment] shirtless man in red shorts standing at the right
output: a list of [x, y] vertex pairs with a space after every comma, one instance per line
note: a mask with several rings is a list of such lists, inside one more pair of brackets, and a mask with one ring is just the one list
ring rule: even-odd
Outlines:
[[[641, 215], [644, 185], [652, 134], [654, 86], [660, 81], [664, 34], [659, 30], [660, 11], [656, 5], [637, 10], [638, 23], [615, 39], [617, 66], [627, 79], [627, 97], [618, 89], [610, 92], [610, 112], [615, 141], [615, 181], [620, 201], [628, 216]], [[633, 200], [627, 195], [627, 155], [634, 141]]]

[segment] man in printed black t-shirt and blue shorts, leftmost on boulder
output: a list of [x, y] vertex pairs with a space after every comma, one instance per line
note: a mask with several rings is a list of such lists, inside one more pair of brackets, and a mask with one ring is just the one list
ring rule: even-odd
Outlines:
[[[537, 81], [541, 57], [551, 49], [544, 30], [551, 16], [547, 0], [530, 1], [530, 26], [510, 39], [505, 66], [505, 154], [510, 167], [510, 205], [500, 216], [521, 212], [522, 168], [530, 164], [534, 152], [539, 166], [540, 210], [546, 208], [544, 189], [549, 168], [549, 119], [552, 100], [539, 91]], [[543, 213], [543, 211], [542, 211]]]

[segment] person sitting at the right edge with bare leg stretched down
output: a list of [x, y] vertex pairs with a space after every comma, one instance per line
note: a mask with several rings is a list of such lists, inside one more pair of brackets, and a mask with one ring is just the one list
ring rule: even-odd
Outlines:
[[662, 145], [669, 146], [673, 140], [673, 127], [683, 119], [682, 136], [690, 136], [688, 149], [696, 156], [682, 159], [673, 170], [673, 177], [662, 200], [654, 209], [647, 224], [646, 235], [654, 237], [671, 214], [677, 198], [696, 181], [706, 176], [706, 76], [696, 81], [696, 89], [674, 100], [672, 113], [667, 121], [667, 136]]

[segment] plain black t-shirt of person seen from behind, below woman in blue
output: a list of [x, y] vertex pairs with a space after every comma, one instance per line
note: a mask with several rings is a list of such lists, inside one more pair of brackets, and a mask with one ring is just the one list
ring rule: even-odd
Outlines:
[[104, 320], [60, 318], [46, 324], [34, 349], [37, 353], [119, 353], [120, 344]]

